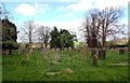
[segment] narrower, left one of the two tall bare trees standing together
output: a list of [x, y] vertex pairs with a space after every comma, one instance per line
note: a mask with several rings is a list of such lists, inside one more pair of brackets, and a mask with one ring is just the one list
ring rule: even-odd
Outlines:
[[82, 30], [84, 32], [84, 38], [89, 47], [99, 47], [98, 39], [100, 38], [99, 29], [101, 20], [98, 13], [99, 10], [90, 10], [86, 13], [86, 20], [83, 23]]

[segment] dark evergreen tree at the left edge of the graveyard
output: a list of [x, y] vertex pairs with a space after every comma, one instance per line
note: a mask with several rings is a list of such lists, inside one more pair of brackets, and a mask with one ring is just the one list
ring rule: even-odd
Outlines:
[[2, 49], [17, 49], [16, 26], [9, 19], [2, 19]]

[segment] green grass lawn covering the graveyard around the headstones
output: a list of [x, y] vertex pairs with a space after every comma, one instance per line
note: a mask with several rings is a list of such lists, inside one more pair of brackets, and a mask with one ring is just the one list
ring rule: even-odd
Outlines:
[[[106, 59], [98, 59], [99, 66], [92, 65], [91, 54], [87, 60], [81, 60], [81, 53], [62, 52], [60, 59], [54, 59], [55, 52], [51, 53], [50, 63], [43, 59], [40, 51], [34, 51], [29, 61], [21, 64], [25, 55], [2, 56], [2, 81], [128, 81], [128, 66], [108, 66], [128, 61], [128, 53], [119, 55], [116, 51], [107, 51]], [[67, 72], [70, 69], [74, 72]], [[61, 73], [51, 75], [47, 72]]]

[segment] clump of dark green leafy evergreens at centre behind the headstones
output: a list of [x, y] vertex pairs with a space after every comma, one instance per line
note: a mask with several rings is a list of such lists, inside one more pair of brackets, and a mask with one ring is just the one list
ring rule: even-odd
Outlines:
[[74, 41], [76, 41], [76, 36], [70, 34], [68, 30], [57, 31], [56, 27], [51, 32], [51, 47], [74, 47]]

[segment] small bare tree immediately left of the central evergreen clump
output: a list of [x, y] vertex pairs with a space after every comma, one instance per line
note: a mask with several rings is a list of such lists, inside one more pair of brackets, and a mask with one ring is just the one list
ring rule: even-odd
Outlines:
[[47, 47], [50, 41], [50, 37], [51, 37], [50, 36], [51, 28], [48, 26], [40, 26], [38, 32], [39, 32], [39, 40], [42, 43], [44, 43]]

